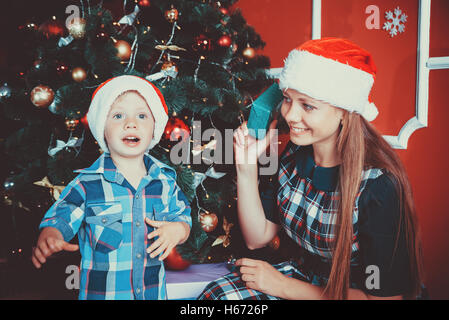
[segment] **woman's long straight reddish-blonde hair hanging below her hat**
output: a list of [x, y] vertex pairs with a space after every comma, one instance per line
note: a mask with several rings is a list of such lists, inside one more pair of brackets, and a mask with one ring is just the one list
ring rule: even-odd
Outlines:
[[[412, 189], [402, 162], [394, 149], [362, 116], [345, 111], [337, 140], [341, 157], [339, 184], [341, 198], [335, 231], [332, 268], [324, 294], [331, 299], [347, 299], [349, 289], [350, 261], [353, 243], [352, 215], [359, 192], [362, 171], [368, 168], [386, 169], [394, 177], [400, 203], [399, 225], [405, 230], [408, 256], [410, 258], [411, 292], [405, 298], [415, 297], [422, 281], [421, 241]], [[397, 244], [397, 240], [396, 240]]]

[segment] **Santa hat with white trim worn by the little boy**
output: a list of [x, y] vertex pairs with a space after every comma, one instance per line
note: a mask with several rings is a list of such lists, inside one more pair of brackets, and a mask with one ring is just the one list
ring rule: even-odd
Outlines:
[[[146, 79], [123, 75], [103, 82], [93, 93], [87, 113], [87, 122], [92, 135], [104, 152], [109, 152], [104, 139], [106, 118], [112, 104], [125, 91], [137, 91], [145, 99], [154, 117], [153, 140], [148, 150], [161, 139], [168, 121], [168, 109], [162, 93]], [[147, 150], [147, 151], [148, 151]]]

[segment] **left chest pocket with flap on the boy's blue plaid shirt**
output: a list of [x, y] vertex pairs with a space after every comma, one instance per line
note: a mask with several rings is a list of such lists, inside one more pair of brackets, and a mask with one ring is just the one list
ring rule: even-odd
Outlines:
[[86, 224], [91, 230], [92, 248], [102, 253], [118, 249], [123, 241], [122, 218], [119, 202], [88, 204]]

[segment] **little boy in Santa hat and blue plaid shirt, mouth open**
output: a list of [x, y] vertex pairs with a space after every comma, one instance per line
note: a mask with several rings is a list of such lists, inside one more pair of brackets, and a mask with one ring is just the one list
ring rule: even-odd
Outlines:
[[[192, 221], [174, 169], [147, 154], [168, 120], [164, 98], [145, 79], [112, 78], [94, 92], [87, 120], [104, 153], [48, 210], [32, 261], [40, 268], [79, 248], [79, 299], [166, 299], [162, 260]], [[68, 243], [76, 233], [79, 246]]]

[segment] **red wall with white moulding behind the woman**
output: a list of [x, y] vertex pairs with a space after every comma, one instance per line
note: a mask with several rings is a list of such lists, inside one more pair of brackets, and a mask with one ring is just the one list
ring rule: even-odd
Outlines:
[[[380, 29], [368, 30], [365, 13], [377, 5]], [[322, 37], [344, 37], [369, 50], [378, 67], [373, 124], [397, 135], [415, 115], [418, 0], [322, 0]], [[382, 30], [385, 12], [400, 7], [408, 16], [405, 32], [391, 38]], [[248, 23], [267, 43], [261, 52], [282, 67], [288, 52], [311, 38], [312, 0], [240, 0]], [[449, 56], [449, 1], [433, 0], [430, 56]], [[406, 150], [398, 150], [413, 187], [422, 230], [426, 285], [433, 299], [449, 299], [449, 70], [430, 72], [428, 127], [415, 131]]]

